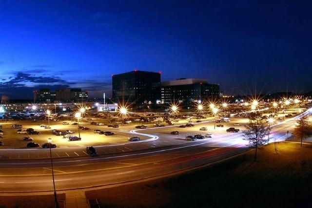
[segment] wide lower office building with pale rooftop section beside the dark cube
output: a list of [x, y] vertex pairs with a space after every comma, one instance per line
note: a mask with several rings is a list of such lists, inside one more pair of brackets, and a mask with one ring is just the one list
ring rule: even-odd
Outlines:
[[157, 88], [156, 103], [161, 104], [192, 103], [219, 97], [219, 85], [209, 84], [206, 79], [180, 78], [161, 82]]

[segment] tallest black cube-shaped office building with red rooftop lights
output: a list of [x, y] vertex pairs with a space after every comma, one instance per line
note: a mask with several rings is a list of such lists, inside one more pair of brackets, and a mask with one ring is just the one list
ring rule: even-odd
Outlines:
[[160, 83], [160, 73], [134, 70], [112, 78], [113, 100], [137, 105], [153, 102], [153, 85]]

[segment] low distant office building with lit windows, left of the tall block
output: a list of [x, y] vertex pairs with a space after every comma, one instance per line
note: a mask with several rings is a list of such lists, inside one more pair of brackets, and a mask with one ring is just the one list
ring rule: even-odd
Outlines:
[[34, 91], [34, 100], [36, 102], [71, 102], [71, 101], [86, 101], [88, 92], [77, 88], [59, 89], [55, 92], [50, 89], [40, 89]]

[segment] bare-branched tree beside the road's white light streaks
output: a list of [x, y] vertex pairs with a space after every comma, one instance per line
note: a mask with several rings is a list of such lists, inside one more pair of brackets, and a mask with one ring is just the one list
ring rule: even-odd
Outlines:
[[258, 147], [269, 142], [270, 138], [266, 138], [271, 131], [271, 127], [263, 120], [249, 120], [246, 130], [243, 131], [244, 138], [249, 141], [248, 146], [255, 148], [254, 161], [257, 159]]

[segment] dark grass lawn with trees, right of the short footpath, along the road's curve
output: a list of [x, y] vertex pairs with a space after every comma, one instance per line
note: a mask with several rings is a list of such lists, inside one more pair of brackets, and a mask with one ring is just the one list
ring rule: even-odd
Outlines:
[[[86, 192], [103, 207], [310, 207], [312, 148], [283, 142], [175, 177]], [[309, 206], [308, 206], [309, 205]]]

